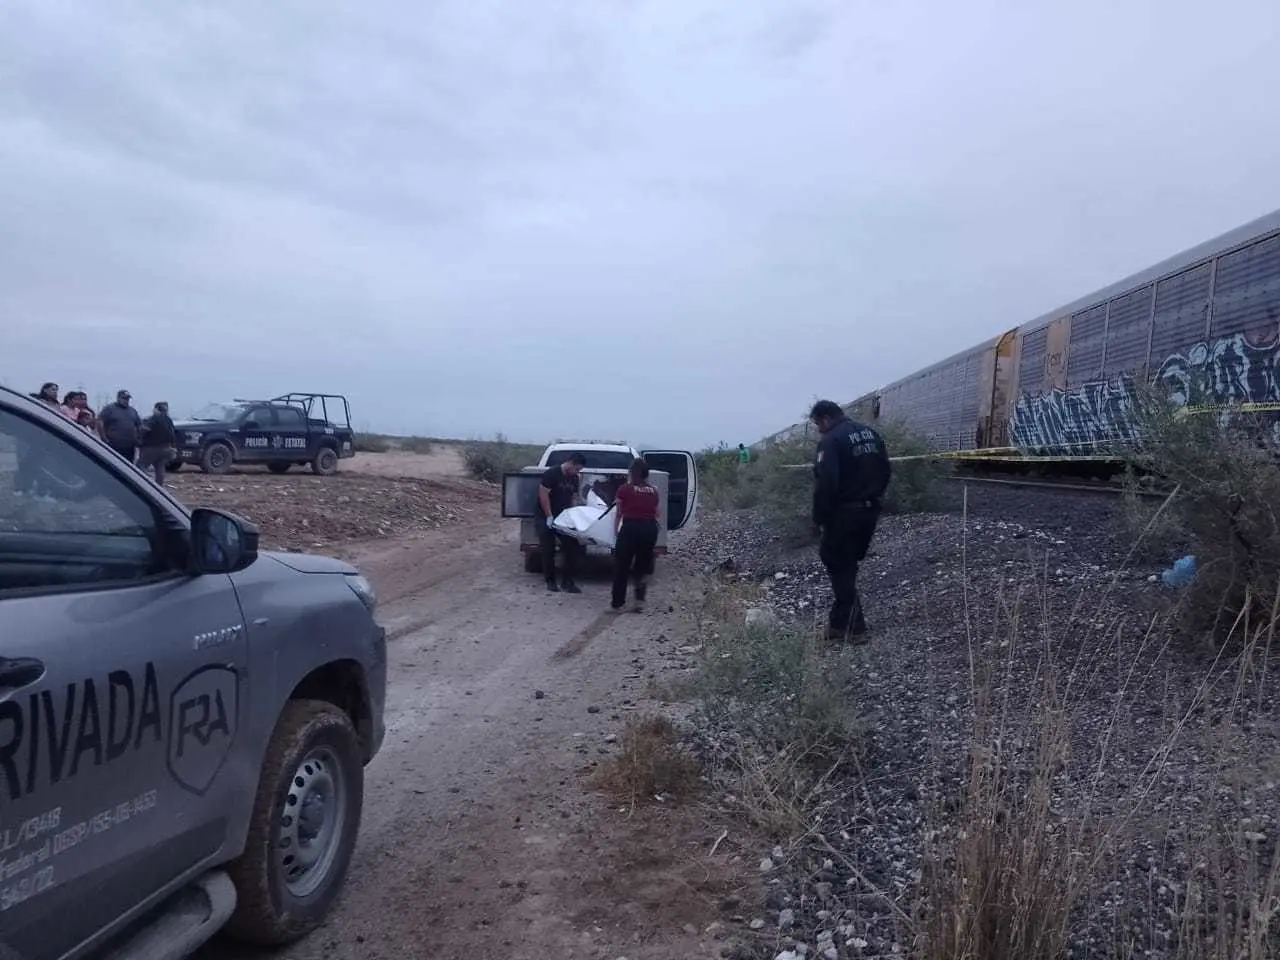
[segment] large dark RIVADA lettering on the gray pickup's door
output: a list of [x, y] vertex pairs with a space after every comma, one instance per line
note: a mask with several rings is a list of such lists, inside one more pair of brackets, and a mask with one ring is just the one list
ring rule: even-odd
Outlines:
[[155, 664], [0, 703], [0, 797], [20, 800], [164, 739]]

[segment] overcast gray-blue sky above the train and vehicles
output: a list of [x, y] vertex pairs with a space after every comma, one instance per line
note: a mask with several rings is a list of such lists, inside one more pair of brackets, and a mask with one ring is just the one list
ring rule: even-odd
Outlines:
[[1276, 0], [5, 0], [0, 379], [755, 440], [1280, 207]]

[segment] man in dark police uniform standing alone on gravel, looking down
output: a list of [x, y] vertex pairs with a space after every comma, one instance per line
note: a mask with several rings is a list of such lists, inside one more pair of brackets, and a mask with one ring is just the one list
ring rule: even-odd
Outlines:
[[858, 564], [867, 557], [888, 488], [888, 451], [878, 433], [850, 420], [838, 403], [818, 401], [809, 419], [822, 434], [813, 463], [813, 522], [822, 530], [818, 556], [835, 595], [826, 636], [865, 643], [854, 640], [867, 632]]

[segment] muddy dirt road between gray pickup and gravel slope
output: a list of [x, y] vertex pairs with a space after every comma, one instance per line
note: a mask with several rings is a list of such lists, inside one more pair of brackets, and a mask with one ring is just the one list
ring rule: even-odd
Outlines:
[[280, 956], [718, 955], [733, 844], [710, 859], [718, 827], [692, 808], [620, 809], [586, 785], [653, 681], [685, 666], [675, 563], [663, 602], [614, 616], [603, 576], [545, 593], [517, 532], [476, 516], [357, 550], [390, 635], [388, 736], [343, 900]]

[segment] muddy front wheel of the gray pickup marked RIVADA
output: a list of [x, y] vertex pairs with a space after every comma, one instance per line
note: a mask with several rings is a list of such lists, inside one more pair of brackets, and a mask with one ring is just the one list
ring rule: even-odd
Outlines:
[[227, 932], [259, 946], [319, 927], [356, 849], [365, 768], [351, 718], [291, 700], [271, 733], [244, 852], [229, 868], [237, 904]]

